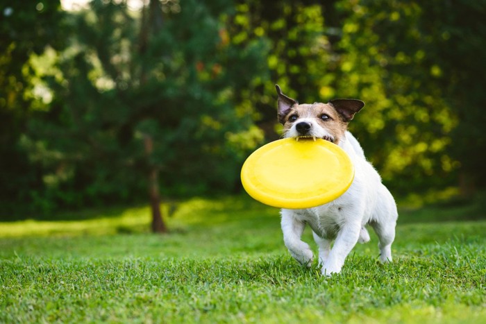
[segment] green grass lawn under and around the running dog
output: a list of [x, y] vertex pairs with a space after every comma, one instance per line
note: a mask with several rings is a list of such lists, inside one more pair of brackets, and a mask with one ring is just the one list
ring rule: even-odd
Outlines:
[[486, 219], [469, 212], [401, 210], [392, 264], [370, 230], [331, 278], [246, 197], [183, 202], [169, 235], [146, 232], [147, 207], [0, 223], [0, 323], [486, 323]]

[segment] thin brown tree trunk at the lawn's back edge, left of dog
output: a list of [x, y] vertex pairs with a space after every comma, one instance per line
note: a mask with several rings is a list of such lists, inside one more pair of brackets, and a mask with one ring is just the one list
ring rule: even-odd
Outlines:
[[160, 194], [158, 189], [158, 169], [150, 164], [150, 156], [153, 151], [153, 140], [150, 135], [144, 136], [146, 159], [149, 161], [149, 197], [152, 212], [152, 232], [167, 233], [167, 227], [162, 219], [160, 210]]

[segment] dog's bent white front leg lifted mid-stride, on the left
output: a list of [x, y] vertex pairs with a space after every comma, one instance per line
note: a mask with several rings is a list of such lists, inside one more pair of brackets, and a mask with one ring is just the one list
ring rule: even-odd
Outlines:
[[301, 240], [305, 223], [299, 219], [294, 211], [282, 210], [283, 241], [294, 259], [305, 266], [310, 266], [314, 255], [307, 243]]

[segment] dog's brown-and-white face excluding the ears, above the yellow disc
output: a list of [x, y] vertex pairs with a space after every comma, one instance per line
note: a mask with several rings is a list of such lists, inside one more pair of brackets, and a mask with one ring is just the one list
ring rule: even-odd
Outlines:
[[294, 105], [283, 119], [285, 137], [316, 137], [339, 144], [348, 123], [332, 105]]

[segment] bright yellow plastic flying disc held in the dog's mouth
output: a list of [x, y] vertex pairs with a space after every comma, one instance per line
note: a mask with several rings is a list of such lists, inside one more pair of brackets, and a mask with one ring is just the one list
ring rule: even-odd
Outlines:
[[241, 179], [255, 200], [273, 207], [323, 205], [344, 194], [354, 178], [349, 156], [324, 139], [278, 139], [253, 152]]

